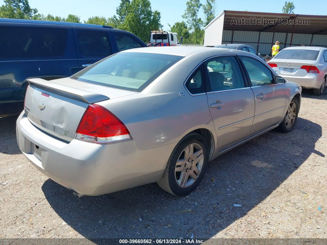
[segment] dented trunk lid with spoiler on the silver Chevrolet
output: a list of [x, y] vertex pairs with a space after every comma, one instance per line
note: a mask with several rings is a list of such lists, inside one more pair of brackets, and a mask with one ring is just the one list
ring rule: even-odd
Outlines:
[[25, 114], [36, 127], [65, 141], [74, 138], [89, 104], [136, 93], [70, 78], [28, 81]]

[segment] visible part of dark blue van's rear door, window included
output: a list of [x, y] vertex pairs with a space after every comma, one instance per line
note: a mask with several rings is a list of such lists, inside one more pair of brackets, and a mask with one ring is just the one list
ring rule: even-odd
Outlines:
[[112, 55], [109, 29], [73, 26], [73, 31], [80, 69]]

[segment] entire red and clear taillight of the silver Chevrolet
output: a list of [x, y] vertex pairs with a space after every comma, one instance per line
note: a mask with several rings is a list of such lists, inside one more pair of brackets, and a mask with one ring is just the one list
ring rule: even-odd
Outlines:
[[77, 127], [76, 139], [105, 144], [130, 139], [125, 124], [106, 108], [91, 104]]

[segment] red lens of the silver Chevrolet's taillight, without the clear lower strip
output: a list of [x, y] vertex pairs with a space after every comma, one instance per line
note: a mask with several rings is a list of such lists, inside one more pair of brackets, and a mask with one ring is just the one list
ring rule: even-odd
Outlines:
[[125, 124], [106, 108], [91, 104], [87, 107], [76, 133], [95, 137], [113, 137], [129, 134]]

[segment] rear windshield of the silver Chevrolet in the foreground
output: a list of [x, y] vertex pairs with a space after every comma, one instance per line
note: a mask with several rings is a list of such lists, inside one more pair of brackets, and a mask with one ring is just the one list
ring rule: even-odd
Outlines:
[[140, 92], [182, 56], [122, 52], [77, 72], [71, 78], [112, 88]]

